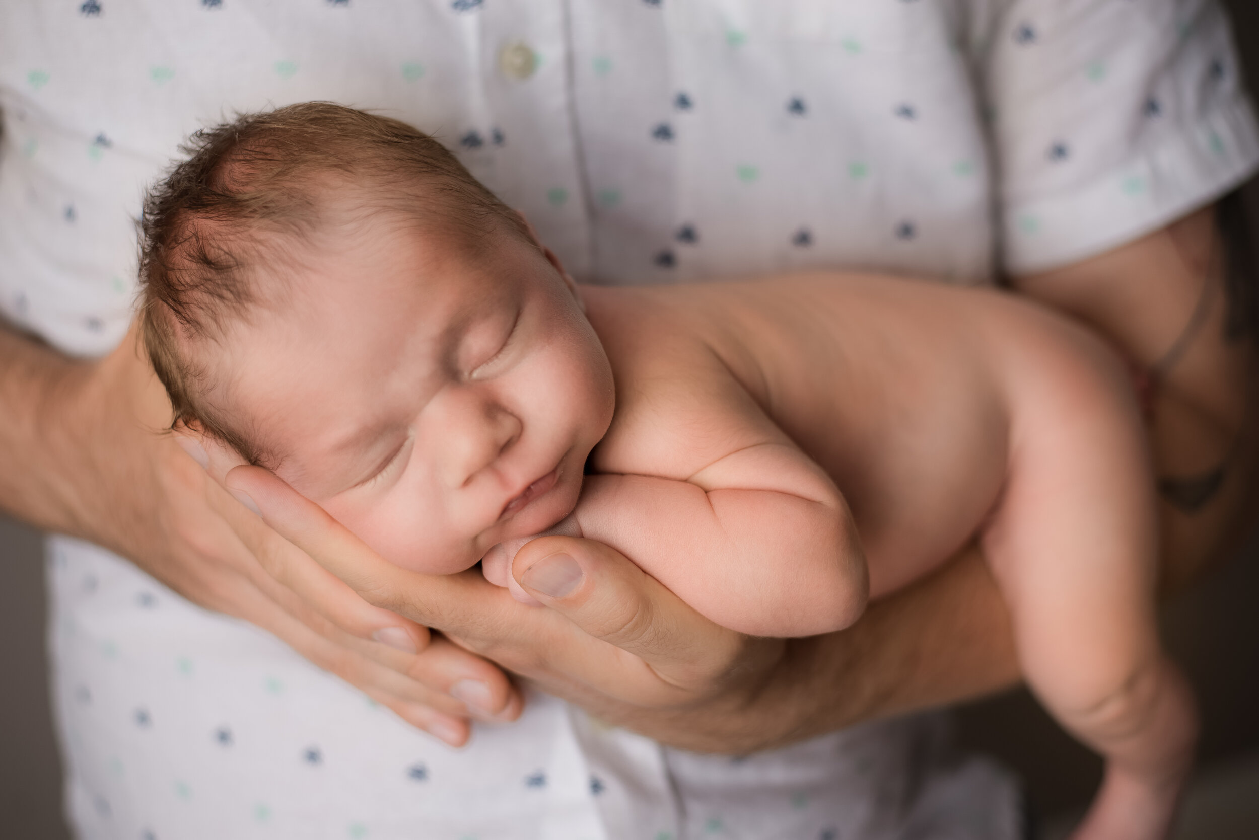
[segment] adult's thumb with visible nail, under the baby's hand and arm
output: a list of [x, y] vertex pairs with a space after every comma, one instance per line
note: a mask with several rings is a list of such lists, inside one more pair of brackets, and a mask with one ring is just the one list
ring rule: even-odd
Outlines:
[[641, 660], [663, 685], [685, 694], [713, 689], [748, 650], [745, 636], [709, 621], [618, 551], [593, 539], [534, 539], [516, 553], [512, 575], [583, 633]]

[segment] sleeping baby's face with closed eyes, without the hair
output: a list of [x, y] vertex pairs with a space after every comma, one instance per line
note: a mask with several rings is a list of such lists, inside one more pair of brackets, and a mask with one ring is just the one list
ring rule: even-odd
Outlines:
[[573, 509], [613, 386], [549, 254], [395, 230], [325, 238], [293, 270], [298, 290], [233, 327], [212, 368], [212, 400], [281, 478], [431, 573]]

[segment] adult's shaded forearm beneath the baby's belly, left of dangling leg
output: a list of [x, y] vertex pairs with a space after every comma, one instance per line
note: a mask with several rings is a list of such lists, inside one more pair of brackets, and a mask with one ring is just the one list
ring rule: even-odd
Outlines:
[[[980, 697], [1019, 680], [1005, 602], [973, 547], [871, 604], [847, 630], [779, 644], [772, 649], [772, 668], [730, 674], [728, 689], [697, 708], [662, 713], [584, 704], [674, 747], [738, 754]], [[767, 653], [758, 649], [755, 659]]]

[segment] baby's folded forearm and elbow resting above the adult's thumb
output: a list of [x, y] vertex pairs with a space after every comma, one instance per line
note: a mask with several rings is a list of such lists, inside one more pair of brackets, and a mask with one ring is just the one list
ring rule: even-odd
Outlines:
[[584, 536], [723, 626], [830, 633], [865, 609], [866, 567], [842, 499], [816, 469], [799, 450], [767, 443], [685, 482], [590, 475], [575, 516]]

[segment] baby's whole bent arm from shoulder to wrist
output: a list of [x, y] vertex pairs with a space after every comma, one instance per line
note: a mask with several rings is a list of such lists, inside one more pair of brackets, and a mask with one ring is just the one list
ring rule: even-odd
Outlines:
[[[706, 617], [753, 635], [850, 625], [867, 576], [831, 478], [715, 360], [621, 399], [574, 512]], [[611, 474], [608, 474], [611, 473]]]

